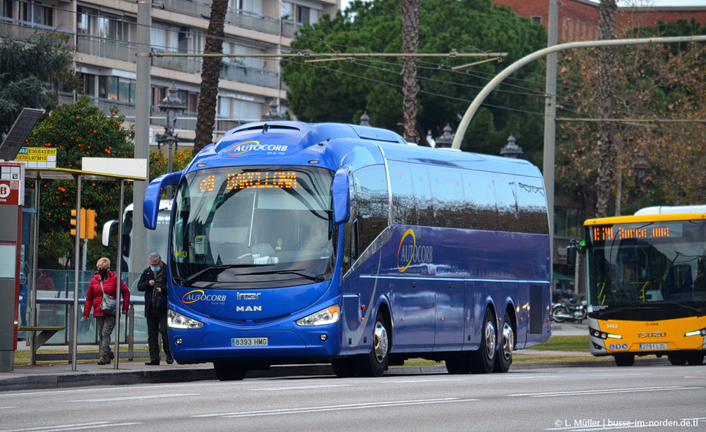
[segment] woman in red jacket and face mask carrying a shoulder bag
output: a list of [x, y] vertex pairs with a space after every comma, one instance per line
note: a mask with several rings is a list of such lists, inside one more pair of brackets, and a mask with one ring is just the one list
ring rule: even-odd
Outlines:
[[[110, 350], [110, 335], [115, 328], [115, 316], [105, 314], [100, 310], [100, 304], [103, 300], [103, 292], [112, 297], [116, 297], [118, 286], [118, 275], [110, 271], [110, 260], [101, 258], [96, 264], [98, 271], [93, 275], [93, 278], [88, 284], [88, 292], [86, 293], [86, 305], [83, 308], [83, 319], [88, 321], [91, 305], [93, 306], [93, 318], [95, 318], [98, 337], [100, 338], [100, 359], [98, 364], [110, 364], [110, 361], [115, 358]], [[101, 284], [101, 281], [103, 282]], [[101, 288], [101, 285], [102, 288]], [[130, 290], [124, 281], [120, 280], [120, 292], [123, 297], [122, 307], [123, 315], [127, 314], [130, 307]]]

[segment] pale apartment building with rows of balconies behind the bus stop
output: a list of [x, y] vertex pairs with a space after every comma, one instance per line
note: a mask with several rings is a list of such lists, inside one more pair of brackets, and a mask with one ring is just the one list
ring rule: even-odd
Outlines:
[[[0, 31], [16, 37], [32, 32], [63, 32], [76, 45], [75, 69], [88, 95], [106, 113], [110, 105], [135, 116], [137, 2], [135, 0], [0, 0]], [[203, 53], [211, 2], [153, 0], [151, 49]], [[229, 0], [225, 18], [226, 54], [278, 54], [304, 23], [332, 16], [340, 0]], [[151, 57], [152, 144], [164, 127], [157, 104], [172, 82], [186, 112], [177, 120], [180, 145], [193, 142], [203, 62], [198, 57]], [[286, 85], [279, 58], [224, 58], [220, 73], [215, 136], [235, 125], [259, 120], [276, 101], [287, 111]], [[61, 93], [61, 103], [79, 94]]]

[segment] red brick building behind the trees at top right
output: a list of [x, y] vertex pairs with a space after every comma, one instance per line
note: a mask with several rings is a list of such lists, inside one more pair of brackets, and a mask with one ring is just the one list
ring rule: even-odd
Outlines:
[[[517, 15], [544, 27], [549, 22], [549, 0], [493, 0], [493, 3], [508, 6]], [[598, 1], [592, 0], [559, 1], [558, 42], [598, 39], [598, 5]], [[673, 23], [692, 18], [697, 23], [706, 23], [706, 6], [626, 6], [619, 7], [616, 16], [618, 32], [654, 27], [659, 20]]]

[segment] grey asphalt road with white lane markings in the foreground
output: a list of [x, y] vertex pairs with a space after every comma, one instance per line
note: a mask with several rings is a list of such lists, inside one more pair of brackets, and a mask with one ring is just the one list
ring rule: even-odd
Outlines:
[[698, 431], [705, 396], [706, 366], [120, 385], [1, 393], [0, 432]]

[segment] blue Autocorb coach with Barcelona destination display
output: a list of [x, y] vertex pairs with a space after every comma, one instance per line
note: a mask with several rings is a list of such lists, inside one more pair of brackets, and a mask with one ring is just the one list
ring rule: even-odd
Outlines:
[[335, 123], [249, 123], [145, 195], [169, 233], [169, 347], [220, 380], [330, 362], [381, 376], [421, 357], [508, 371], [549, 338], [549, 223], [527, 161]]

